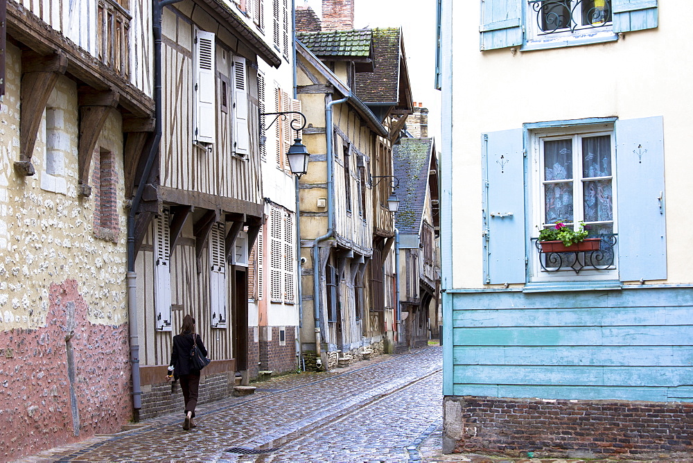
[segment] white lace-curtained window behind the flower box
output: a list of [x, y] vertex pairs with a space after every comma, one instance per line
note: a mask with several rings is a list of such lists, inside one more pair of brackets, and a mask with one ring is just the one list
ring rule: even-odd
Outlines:
[[[534, 229], [584, 223], [590, 237], [602, 238], [599, 250], [539, 253], [535, 276], [613, 278], [615, 272], [615, 143], [612, 128], [534, 134]], [[538, 245], [537, 251], [538, 251]], [[599, 271], [596, 271], [599, 270]]]

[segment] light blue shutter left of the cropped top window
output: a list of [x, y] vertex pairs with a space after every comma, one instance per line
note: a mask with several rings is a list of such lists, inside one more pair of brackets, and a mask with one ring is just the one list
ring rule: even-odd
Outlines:
[[521, 45], [523, 39], [520, 0], [482, 0], [481, 50]]

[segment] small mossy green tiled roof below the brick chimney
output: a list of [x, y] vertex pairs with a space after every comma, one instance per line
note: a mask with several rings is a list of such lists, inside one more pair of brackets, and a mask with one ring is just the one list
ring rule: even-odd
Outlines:
[[369, 58], [372, 35], [370, 30], [327, 30], [297, 32], [296, 38], [315, 56], [323, 58]]

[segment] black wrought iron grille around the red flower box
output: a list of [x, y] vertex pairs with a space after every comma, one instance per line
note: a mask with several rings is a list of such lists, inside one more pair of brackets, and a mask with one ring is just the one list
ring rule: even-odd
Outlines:
[[532, 238], [539, 253], [539, 265], [543, 272], [573, 270], [613, 270], [616, 268], [615, 247], [617, 234], [590, 235], [588, 238], [602, 238], [599, 249], [594, 251], [545, 252], [538, 238]]

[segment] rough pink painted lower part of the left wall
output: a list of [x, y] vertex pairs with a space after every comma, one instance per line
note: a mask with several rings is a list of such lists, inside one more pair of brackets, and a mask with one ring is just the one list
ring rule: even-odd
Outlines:
[[[73, 279], [51, 284], [46, 325], [0, 331], [0, 460], [120, 430], [132, 416], [128, 324], [87, 319]], [[66, 338], [74, 358], [73, 419]]]

